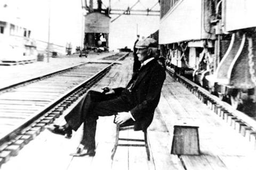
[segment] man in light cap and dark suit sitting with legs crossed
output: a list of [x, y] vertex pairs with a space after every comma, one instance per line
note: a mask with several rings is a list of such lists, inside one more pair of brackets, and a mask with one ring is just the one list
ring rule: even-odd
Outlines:
[[49, 126], [51, 132], [70, 138], [72, 130], [84, 123], [81, 145], [73, 156], [95, 155], [95, 131], [99, 116], [116, 115], [115, 123], [134, 123], [134, 130], [146, 130], [153, 120], [165, 80], [165, 67], [157, 61], [157, 43], [152, 38], [138, 41], [141, 68], [126, 88], [90, 90], [82, 101], [65, 116], [63, 126]]

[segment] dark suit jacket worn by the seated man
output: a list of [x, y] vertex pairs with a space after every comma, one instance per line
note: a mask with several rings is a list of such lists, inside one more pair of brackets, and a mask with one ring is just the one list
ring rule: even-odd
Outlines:
[[[115, 94], [120, 94], [133, 106], [130, 112], [135, 119], [134, 130], [146, 130], [152, 122], [165, 77], [164, 67], [154, 59], [142, 66], [126, 88], [114, 89]], [[133, 82], [134, 85], [130, 92], [127, 87]]]

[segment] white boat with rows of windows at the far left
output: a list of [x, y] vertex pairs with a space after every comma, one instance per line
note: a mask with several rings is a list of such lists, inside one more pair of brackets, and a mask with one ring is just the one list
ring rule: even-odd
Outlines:
[[18, 7], [0, 2], [1, 62], [36, 60], [36, 41], [31, 37], [31, 29], [19, 18]]

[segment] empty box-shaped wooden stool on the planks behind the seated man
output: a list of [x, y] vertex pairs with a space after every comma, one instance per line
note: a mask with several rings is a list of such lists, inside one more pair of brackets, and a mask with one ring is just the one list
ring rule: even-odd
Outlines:
[[171, 154], [200, 155], [198, 126], [174, 125]]

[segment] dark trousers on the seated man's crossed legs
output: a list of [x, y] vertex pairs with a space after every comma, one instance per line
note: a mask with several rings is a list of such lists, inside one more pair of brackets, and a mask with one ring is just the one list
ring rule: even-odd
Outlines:
[[98, 117], [116, 115], [118, 112], [129, 112], [131, 109], [132, 106], [124, 96], [105, 95], [90, 90], [73, 111], [65, 116], [65, 120], [75, 131], [84, 123], [81, 144], [86, 148], [95, 149]]

